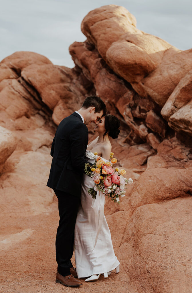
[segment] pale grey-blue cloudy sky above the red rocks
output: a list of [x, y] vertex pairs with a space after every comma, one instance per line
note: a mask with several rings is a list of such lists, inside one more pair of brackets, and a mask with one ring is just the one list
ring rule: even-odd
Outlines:
[[192, 48], [191, 0], [0, 0], [0, 61], [16, 51], [32, 51], [53, 64], [74, 67], [69, 45], [84, 42], [81, 21], [95, 8], [124, 6], [137, 28], [180, 50]]

